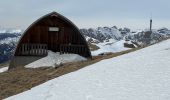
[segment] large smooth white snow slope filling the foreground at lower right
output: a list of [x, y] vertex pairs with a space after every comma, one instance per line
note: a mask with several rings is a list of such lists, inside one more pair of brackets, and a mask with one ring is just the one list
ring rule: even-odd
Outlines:
[[170, 100], [170, 40], [102, 60], [6, 100]]

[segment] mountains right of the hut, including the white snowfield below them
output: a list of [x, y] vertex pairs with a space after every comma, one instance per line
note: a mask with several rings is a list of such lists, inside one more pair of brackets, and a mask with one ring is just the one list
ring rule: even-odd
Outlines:
[[144, 47], [157, 43], [170, 37], [170, 30], [161, 28], [158, 30], [136, 30], [131, 31], [129, 28], [98, 27], [96, 29], [80, 29], [86, 40], [95, 45], [91, 48], [93, 55], [120, 52], [129, 48]]

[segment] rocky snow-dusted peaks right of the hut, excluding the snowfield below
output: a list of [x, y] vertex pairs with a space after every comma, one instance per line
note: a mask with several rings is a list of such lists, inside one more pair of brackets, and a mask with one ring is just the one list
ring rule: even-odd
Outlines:
[[146, 46], [170, 37], [170, 30], [167, 28], [152, 30], [150, 32], [149, 30], [131, 31], [129, 28], [118, 29], [116, 26], [113, 26], [80, 29], [80, 31], [87, 37], [87, 41], [89, 42], [109, 42], [110, 39], [115, 41], [126, 40], [131, 41], [137, 46]]

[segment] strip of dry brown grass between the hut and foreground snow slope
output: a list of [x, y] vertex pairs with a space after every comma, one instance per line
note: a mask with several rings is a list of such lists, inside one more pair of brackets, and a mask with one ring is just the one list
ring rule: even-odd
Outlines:
[[[138, 48], [139, 49], [139, 48]], [[8, 72], [0, 73], [0, 99], [29, 90], [34, 86], [42, 84], [53, 78], [79, 70], [103, 59], [120, 56], [138, 49], [131, 49], [119, 53], [109, 53], [103, 56], [93, 57], [92, 60], [83, 62], [67, 63], [55, 68], [26, 69], [18, 68]]]

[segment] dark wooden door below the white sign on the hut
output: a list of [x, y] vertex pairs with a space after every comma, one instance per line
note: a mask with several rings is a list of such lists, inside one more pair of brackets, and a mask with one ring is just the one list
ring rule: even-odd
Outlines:
[[48, 47], [54, 52], [60, 52], [60, 34], [57, 30], [50, 30], [48, 34]]

